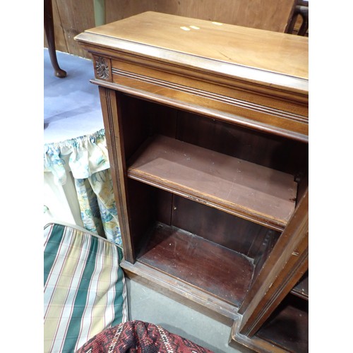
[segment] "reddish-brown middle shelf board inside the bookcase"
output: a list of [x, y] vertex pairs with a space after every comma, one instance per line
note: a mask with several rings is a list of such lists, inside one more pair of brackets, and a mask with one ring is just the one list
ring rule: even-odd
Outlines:
[[293, 176], [165, 136], [141, 150], [128, 177], [276, 230], [295, 207]]

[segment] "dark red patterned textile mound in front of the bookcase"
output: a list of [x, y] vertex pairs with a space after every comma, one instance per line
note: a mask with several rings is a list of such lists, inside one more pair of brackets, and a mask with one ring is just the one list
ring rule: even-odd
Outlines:
[[213, 353], [212, 351], [169, 333], [160, 326], [143, 321], [128, 321], [107, 328], [85, 345], [77, 353]]

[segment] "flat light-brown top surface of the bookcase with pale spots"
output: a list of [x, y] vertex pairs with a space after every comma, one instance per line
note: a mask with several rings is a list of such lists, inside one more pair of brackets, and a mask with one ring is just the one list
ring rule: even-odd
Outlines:
[[86, 30], [85, 34], [98, 35], [101, 47], [114, 47], [114, 40], [123, 40], [143, 44], [150, 56], [158, 56], [156, 49], [163, 49], [174, 56], [186, 54], [308, 80], [307, 37], [152, 11]]

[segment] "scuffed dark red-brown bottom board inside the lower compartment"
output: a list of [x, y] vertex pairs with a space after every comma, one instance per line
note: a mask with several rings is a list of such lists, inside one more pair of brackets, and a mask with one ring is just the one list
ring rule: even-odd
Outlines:
[[137, 261], [234, 306], [244, 299], [253, 275], [253, 259], [162, 223]]

